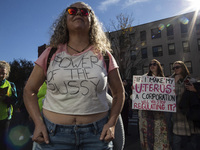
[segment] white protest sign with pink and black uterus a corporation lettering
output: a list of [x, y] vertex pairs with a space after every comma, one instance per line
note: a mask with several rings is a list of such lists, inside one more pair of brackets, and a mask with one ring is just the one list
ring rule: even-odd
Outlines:
[[176, 112], [174, 78], [133, 76], [132, 108]]

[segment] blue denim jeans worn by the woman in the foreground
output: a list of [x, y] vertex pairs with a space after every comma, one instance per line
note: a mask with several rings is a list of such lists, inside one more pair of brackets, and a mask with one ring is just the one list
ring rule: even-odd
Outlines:
[[58, 125], [43, 119], [50, 143], [37, 144], [35, 150], [112, 150], [112, 142], [100, 140], [108, 117], [86, 125]]

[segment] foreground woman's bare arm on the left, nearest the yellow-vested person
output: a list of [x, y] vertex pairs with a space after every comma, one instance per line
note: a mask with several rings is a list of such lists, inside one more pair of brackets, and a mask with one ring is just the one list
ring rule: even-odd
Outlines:
[[26, 83], [23, 95], [26, 109], [29, 112], [35, 124], [33, 141], [36, 141], [38, 143], [49, 143], [46, 127], [44, 125], [37, 100], [38, 89], [44, 81], [44, 71], [40, 66], [36, 64]]

